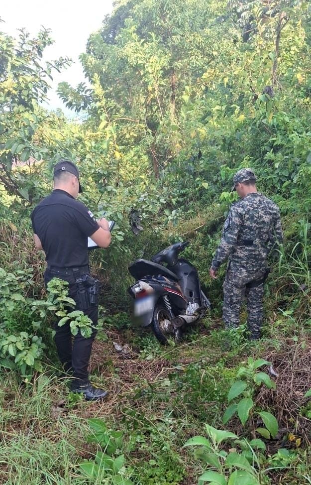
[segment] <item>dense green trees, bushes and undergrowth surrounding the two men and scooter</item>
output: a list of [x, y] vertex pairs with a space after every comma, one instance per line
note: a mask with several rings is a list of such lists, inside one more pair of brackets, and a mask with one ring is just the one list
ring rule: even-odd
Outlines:
[[[76, 121], [41, 105], [70, 63], [42, 61], [52, 34], [12, 39], [1, 27], [0, 482], [310, 484], [310, 1], [116, 1], [81, 54], [89, 83], [58, 88]], [[104, 404], [68, 391], [50, 326], [66, 288], [44, 293], [32, 242], [29, 214], [60, 156], [78, 160], [81, 200], [117, 223], [92, 254], [104, 290], [91, 372], [110, 390]], [[245, 326], [223, 330], [224, 268], [208, 277], [232, 176], [247, 166], [285, 232], [258, 343]], [[127, 265], [178, 239], [191, 241], [213, 310], [162, 348], [132, 328]]]

